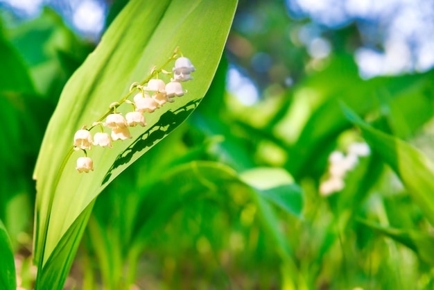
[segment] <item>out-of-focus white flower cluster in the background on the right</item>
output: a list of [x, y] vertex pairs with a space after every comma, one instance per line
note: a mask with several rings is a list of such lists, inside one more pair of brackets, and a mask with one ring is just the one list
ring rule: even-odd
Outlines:
[[329, 179], [320, 184], [320, 194], [329, 196], [345, 187], [344, 178], [358, 164], [359, 157], [370, 155], [370, 147], [366, 143], [353, 143], [348, 147], [347, 155], [333, 151], [329, 156]]

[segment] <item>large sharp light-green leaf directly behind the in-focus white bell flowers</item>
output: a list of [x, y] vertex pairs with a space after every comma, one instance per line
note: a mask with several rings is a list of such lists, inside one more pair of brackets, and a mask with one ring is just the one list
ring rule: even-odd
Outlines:
[[[49, 268], [55, 269], [51, 276], [61, 278], [52, 277], [58, 283], [49, 286], [38, 279], [37, 287], [62, 287], [65, 269], [69, 269], [71, 262], [64, 257], [73, 255], [83, 231], [78, 230], [78, 239], [69, 239], [59, 248], [64, 234], [75, 226], [78, 216], [88, 216], [92, 201], [121, 171], [171, 133], [196, 108], [216, 71], [235, 8], [234, 0], [196, 0], [188, 5], [180, 0], [130, 1], [94, 53], [73, 74], [46, 130], [35, 169], [38, 278]], [[89, 157], [94, 160], [95, 171], [77, 173], [76, 158], [83, 154], [72, 152], [76, 130], [106, 114], [110, 103], [128, 94], [131, 83], [145, 80], [155, 65], [164, 65], [177, 46], [197, 70], [195, 79], [184, 85], [189, 92], [147, 114], [148, 126], [132, 128], [132, 139], [115, 142], [112, 149], [93, 148]], [[160, 77], [168, 80], [166, 76]], [[125, 114], [130, 109], [127, 107], [121, 106], [118, 111]], [[53, 253], [55, 257], [51, 257]]]

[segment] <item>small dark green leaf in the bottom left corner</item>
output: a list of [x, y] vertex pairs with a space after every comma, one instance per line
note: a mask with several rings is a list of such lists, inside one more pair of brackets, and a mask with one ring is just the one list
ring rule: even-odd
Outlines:
[[17, 289], [15, 262], [8, 232], [0, 221], [0, 289]]

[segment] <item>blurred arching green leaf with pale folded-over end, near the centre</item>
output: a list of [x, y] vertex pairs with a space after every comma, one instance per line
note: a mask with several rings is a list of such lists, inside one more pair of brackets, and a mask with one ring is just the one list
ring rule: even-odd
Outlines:
[[[228, 196], [222, 196], [222, 193], [229, 192], [234, 184], [243, 186], [238, 187], [238, 190], [248, 191], [257, 205], [263, 230], [277, 245], [282, 271], [286, 271], [282, 273], [286, 289], [297, 289], [295, 285], [302, 287], [302, 281], [297, 277], [293, 250], [280, 230], [279, 218], [270, 204], [274, 203], [296, 216], [302, 212], [302, 191], [284, 169], [259, 168], [238, 174], [217, 162], [194, 161], [178, 166], [147, 190], [149, 194], [139, 206], [141, 210], [134, 230], [138, 234], [134, 237], [133, 248], [143, 248], [147, 237], [154, 230], [164, 228], [179, 210], [180, 204], [191, 203], [192, 199], [203, 198], [209, 193], [227, 200]], [[162, 195], [161, 192], [166, 194]]]

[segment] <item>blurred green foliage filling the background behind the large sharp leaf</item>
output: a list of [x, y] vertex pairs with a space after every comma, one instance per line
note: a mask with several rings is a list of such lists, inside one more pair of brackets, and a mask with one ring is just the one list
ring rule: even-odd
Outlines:
[[[333, 51], [312, 60], [282, 5], [241, 1], [205, 99], [98, 196], [65, 289], [434, 288], [434, 72], [363, 80], [354, 26], [330, 31]], [[238, 26], [246, 11], [261, 29]], [[31, 254], [44, 130], [93, 48], [49, 8], [3, 24], [0, 219], [16, 259]], [[281, 61], [249, 69], [261, 51]], [[245, 106], [227, 92], [229, 63], [264, 80], [263, 99]], [[364, 136], [371, 154], [321, 195], [330, 153]], [[22, 281], [30, 272], [17, 268]]]

